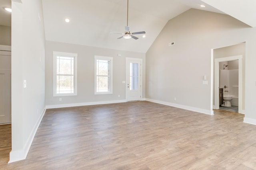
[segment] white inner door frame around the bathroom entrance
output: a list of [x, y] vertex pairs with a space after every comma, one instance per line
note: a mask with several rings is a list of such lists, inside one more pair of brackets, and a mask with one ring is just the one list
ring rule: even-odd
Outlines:
[[214, 105], [220, 109], [219, 86], [220, 86], [220, 62], [238, 60], [238, 113], [242, 113], [242, 55], [214, 59]]

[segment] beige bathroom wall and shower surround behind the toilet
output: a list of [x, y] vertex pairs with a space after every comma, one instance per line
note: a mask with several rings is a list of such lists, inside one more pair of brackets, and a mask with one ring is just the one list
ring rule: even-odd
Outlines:
[[[225, 69], [223, 69], [224, 64], [228, 65]], [[224, 88], [224, 96], [234, 96], [231, 101], [232, 106], [238, 106], [238, 78], [238, 60], [220, 62], [220, 88], [224, 88], [225, 85], [228, 87]]]

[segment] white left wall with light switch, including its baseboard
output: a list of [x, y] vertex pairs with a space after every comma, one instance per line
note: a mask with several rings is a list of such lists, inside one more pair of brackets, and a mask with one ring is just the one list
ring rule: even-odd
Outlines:
[[[12, 1], [12, 151], [9, 162], [26, 158], [44, 114], [45, 98], [42, 1], [17, 1]], [[23, 88], [23, 80], [27, 82], [26, 88]]]

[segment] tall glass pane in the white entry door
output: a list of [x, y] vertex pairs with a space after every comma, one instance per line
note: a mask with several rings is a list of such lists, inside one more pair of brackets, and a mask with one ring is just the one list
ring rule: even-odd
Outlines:
[[138, 63], [130, 63], [130, 90], [138, 90]]

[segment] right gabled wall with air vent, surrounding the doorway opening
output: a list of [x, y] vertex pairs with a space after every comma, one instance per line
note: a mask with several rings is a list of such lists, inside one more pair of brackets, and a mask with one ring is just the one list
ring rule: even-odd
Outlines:
[[255, 37], [256, 28], [224, 14], [190, 9], [169, 20], [146, 53], [146, 98], [209, 113], [211, 50], [246, 42], [245, 121], [256, 124]]

